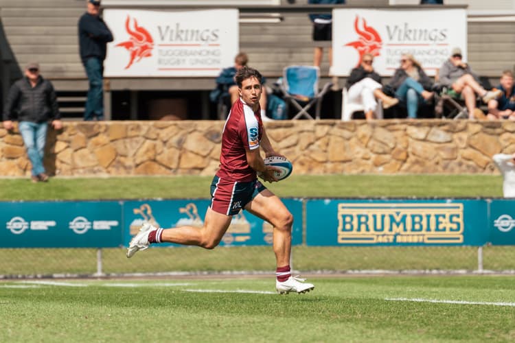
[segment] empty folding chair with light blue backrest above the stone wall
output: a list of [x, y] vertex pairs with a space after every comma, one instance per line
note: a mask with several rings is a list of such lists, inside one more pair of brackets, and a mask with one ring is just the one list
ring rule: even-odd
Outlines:
[[[288, 105], [293, 104], [299, 111], [292, 119], [299, 119], [301, 117], [313, 119], [310, 113], [308, 113], [308, 110], [313, 105], [316, 105], [315, 118], [320, 119], [323, 95], [329, 91], [332, 84], [328, 82], [319, 91], [319, 79], [319, 67], [293, 65], [284, 68], [281, 88], [284, 100]], [[288, 106], [286, 110], [288, 111]]]

